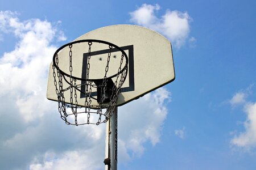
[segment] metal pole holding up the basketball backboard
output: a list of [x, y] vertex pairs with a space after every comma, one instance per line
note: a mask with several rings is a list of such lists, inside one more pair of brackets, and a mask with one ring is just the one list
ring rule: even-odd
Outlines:
[[117, 170], [117, 107], [106, 124], [105, 170]]

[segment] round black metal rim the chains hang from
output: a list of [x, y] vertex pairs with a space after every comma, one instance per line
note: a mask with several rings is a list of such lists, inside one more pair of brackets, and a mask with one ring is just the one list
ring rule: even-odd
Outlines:
[[[56, 58], [56, 55], [60, 52], [61, 49], [64, 49], [66, 46], [69, 46], [69, 45], [73, 45], [73, 44], [79, 44], [81, 42], [98, 42], [98, 43], [102, 43], [102, 44], [107, 44], [109, 46], [113, 46], [114, 48], [117, 48], [120, 52], [122, 52], [122, 54], [125, 56], [125, 66], [123, 67], [123, 69], [120, 71], [120, 73], [122, 73], [123, 71], [125, 71], [125, 69], [128, 69], [128, 57], [127, 57], [127, 54], [125, 53], [125, 51], [123, 49], [121, 49], [119, 46], [115, 45], [115, 44], [112, 44], [111, 42], [108, 42], [108, 41], [102, 41], [102, 40], [95, 40], [95, 39], [85, 39], [85, 40], [77, 40], [77, 41], [72, 41], [72, 42], [69, 42], [68, 44], [65, 44], [63, 46], [61, 46], [59, 49], [56, 50], [56, 52], [53, 54], [53, 59], [52, 59], [52, 62], [53, 62], [53, 66], [59, 70], [60, 74], [62, 75], [65, 75], [65, 76], [68, 76], [70, 78], [73, 78], [73, 79], [76, 79], [76, 80], [84, 80], [84, 81], [95, 81], [95, 80], [101, 80], [101, 79], [83, 79], [83, 78], [79, 78], [79, 77], [76, 77], [76, 76], [72, 76], [72, 75], [69, 75], [67, 73], [65, 73], [64, 71], [62, 71], [60, 69], [60, 67], [57, 66], [56, 64], [56, 61], [55, 61], [55, 58]], [[117, 73], [118, 74], [118, 73]], [[114, 74], [112, 76], [108, 76], [108, 78], [113, 78], [115, 76], [117, 76], [117, 74]], [[126, 77], [125, 77], [126, 79]]]

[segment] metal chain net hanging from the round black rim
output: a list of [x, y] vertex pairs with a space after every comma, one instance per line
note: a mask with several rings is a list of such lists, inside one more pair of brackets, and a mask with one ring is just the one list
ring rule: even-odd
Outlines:
[[[72, 47], [74, 44], [81, 45], [82, 42], [88, 44], [88, 56], [86, 59], [86, 77], [84, 79], [73, 76], [73, 52]], [[104, 75], [101, 79], [90, 79], [90, 59], [91, 49], [93, 45], [105, 44], [108, 45], [108, 53], [106, 53], [106, 63]], [[85, 43], [84, 43], [85, 44]], [[109, 63], [111, 58], [117, 59], [117, 56], [112, 56], [112, 51], [118, 48], [121, 52], [119, 56], [119, 67], [116, 70], [116, 74], [109, 75]], [[58, 53], [63, 48], [69, 48], [69, 71], [65, 73], [59, 67]], [[118, 46], [111, 44], [110, 42], [100, 40], [80, 40], [74, 41], [69, 44], [62, 46], [58, 49], [53, 56], [53, 80], [55, 86], [55, 92], [57, 95], [58, 111], [60, 117], [68, 125], [85, 125], [85, 124], [96, 124], [99, 125], [103, 122], [107, 122], [112, 116], [113, 111], [116, 107], [121, 87], [125, 82], [127, 75], [127, 55]], [[82, 91], [81, 89], [85, 89]], [[97, 91], [97, 95], [95, 95]], [[93, 95], [94, 92], [94, 95]], [[79, 96], [84, 94], [84, 103], [79, 104]]]

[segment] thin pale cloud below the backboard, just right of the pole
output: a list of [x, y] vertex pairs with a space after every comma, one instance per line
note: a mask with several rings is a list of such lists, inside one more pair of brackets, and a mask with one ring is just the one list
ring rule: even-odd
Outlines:
[[166, 100], [170, 101], [170, 97], [170, 92], [160, 88], [119, 109], [119, 140], [126, 153], [133, 152], [131, 158], [143, 154], [143, 145], [147, 141], [153, 146], [160, 141], [162, 126], [168, 113]]

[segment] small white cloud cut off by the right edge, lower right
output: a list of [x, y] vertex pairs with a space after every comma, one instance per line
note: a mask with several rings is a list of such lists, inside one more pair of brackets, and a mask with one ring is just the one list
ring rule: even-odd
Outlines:
[[247, 114], [247, 120], [243, 123], [245, 131], [236, 135], [231, 142], [239, 147], [256, 147], [256, 103], [247, 103], [245, 112]]

